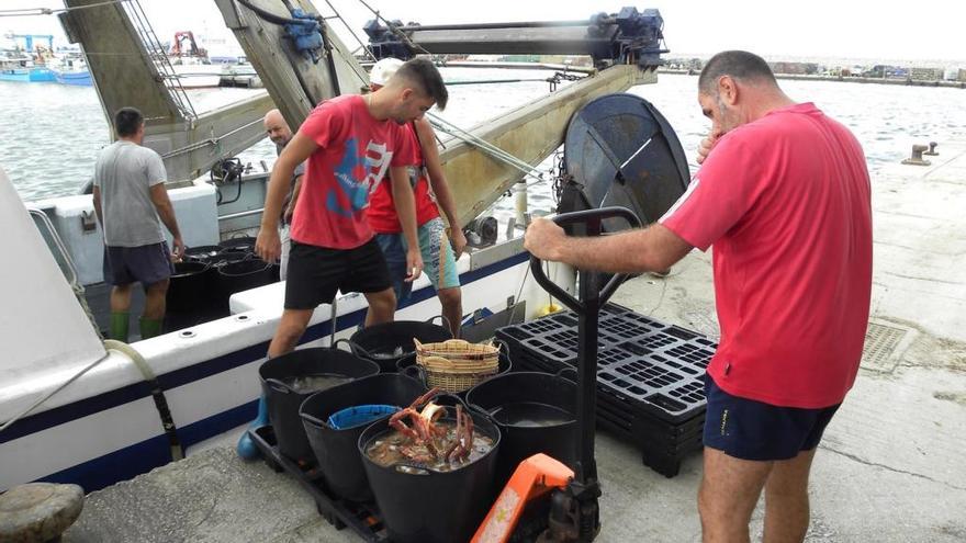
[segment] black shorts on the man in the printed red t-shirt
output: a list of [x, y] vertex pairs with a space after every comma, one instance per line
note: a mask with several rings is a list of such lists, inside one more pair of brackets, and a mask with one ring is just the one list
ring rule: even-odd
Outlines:
[[292, 240], [285, 280], [285, 309], [315, 309], [336, 291], [372, 293], [392, 286], [375, 238], [355, 249], [328, 249]]

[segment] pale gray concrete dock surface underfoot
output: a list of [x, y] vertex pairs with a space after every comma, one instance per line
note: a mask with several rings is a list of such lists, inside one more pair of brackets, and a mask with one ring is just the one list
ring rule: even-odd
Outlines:
[[[929, 167], [873, 176], [866, 355], [816, 456], [806, 541], [966, 541], [966, 142], [940, 149]], [[667, 278], [629, 281], [613, 301], [716, 337], [710, 261], [694, 252]], [[361, 541], [332, 528], [287, 475], [238, 460], [234, 438], [89, 495], [63, 541]], [[700, 541], [700, 453], [665, 478], [599, 432], [597, 465], [598, 541]], [[753, 540], [762, 514], [760, 504]]]

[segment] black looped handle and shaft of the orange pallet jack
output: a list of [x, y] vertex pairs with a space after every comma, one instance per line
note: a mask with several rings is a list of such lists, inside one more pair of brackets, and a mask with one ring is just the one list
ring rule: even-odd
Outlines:
[[[632, 228], [641, 225], [637, 215], [627, 207], [602, 207], [553, 217], [558, 225], [582, 224], [587, 237], [600, 235], [602, 223], [607, 218], [624, 218]], [[563, 305], [577, 314], [577, 464], [574, 478], [566, 490], [552, 498], [550, 529], [543, 541], [592, 541], [600, 530], [597, 498], [600, 485], [597, 480], [597, 463], [594, 460], [595, 411], [597, 407], [597, 324], [600, 307], [627, 279], [627, 274], [616, 274], [604, 285], [599, 284], [599, 272], [580, 271], [580, 297], [575, 298], [550, 281], [541, 267], [540, 259], [530, 257], [530, 271], [533, 280]]]

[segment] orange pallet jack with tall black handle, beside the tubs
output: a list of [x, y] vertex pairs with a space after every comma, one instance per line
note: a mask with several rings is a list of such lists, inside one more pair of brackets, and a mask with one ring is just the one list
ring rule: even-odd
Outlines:
[[[631, 227], [640, 219], [626, 207], [603, 207], [553, 217], [559, 225], [583, 225], [586, 236], [598, 236], [602, 222], [624, 218]], [[577, 462], [571, 471], [546, 454], [535, 454], [517, 466], [507, 485], [473, 536], [473, 543], [589, 542], [600, 531], [597, 498], [597, 463], [594, 460], [595, 410], [597, 404], [597, 325], [600, 307], [627, 279], [610, 278], [600, 289], [600, 275], [580, 270], [580, 299], [554, 284], [543, 273], [541, 261], [530, 258], [530, 272], [547, 292], [577, 314]]]

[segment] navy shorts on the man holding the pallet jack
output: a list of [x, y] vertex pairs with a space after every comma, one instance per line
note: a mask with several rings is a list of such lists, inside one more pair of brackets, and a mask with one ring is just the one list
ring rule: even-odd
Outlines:
[[743, 460], [789, 460], [818, 446], [841, 404], [821, 409], [779, 407], [732, 396], [705, 375], [705, 446]]

